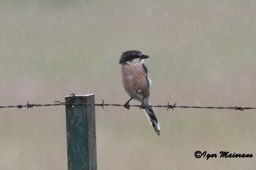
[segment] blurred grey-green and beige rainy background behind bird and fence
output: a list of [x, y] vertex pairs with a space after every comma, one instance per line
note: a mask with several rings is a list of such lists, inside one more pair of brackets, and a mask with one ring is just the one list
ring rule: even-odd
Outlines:
[[[141, 50], [151, 104], [255, 107], [255, 11], [238, 0], [1, 1], [0, 105], [71, 93], [124, 104], [118, 60]], [[255, 169], [255, 110], [154, 110], [160, 136], [143, 110], [96, 108], [98, 169]], [[0, 169], [67, 169], [65, 128], [65, 106], [2, 108]]]

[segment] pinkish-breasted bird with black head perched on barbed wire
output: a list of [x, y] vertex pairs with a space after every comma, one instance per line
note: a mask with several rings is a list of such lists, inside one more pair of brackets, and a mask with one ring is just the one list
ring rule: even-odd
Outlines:
[[143, 64], [143, 60], [147, 58], [149, 58], [148, 55], [138, 50], [123, 52], [120, 57], [122, 83], [125, 91], [131, 97], [124, 104], [124, 107], [129, 110], [129, 102], [132, 99], [140, 101], [140, 108], [144, 109], [150, 124], [154, 127], [157, 135], [160, 135], [160, 126], [154, 111], [150, 107], [149, 95], [152, 81], [148, 78], [148, 69]]

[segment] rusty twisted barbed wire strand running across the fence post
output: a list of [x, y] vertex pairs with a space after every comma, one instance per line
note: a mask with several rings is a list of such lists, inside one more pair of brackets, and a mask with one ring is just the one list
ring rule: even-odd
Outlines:
[[[27, 102], [27, 104], [19, 104], [19, 105], [14, 105], [14, 106], [0, 106], [0, 108], [33, 108], [33, 107], [38, 107], [38, 106], [77, 106], [77, 105], [83, 105], [83, 106], [101, 106], [104, 109], [104, 106], [123, 106], [125, 107], [125, 104], [107, 104], [104, 103], [104, 100], [102, 100], [102, 103], [72, 103], [72, 100], [75, 98], [75, 94], [70, 94], [69, 99], [65, 102], [60, 102], [60, 101], [54, 101], [54, 104], [29, 104], [29, 102]], [[71, 103], [70, 103], [71, 102]], [[141, 105], [128, 105], [128, 107], [139, 107], [141, 108]], [[169, 102], [166, 105], [149, 105], [148, 107], [155, 107], [155, 108], [167, 108], [167, 110], [169, 109], [174, 109], [174, 108], [195, 108], [195, 109], [229, 109], [229, 110], [256, 110], [256, 108], [250, 108], [250, 107], [238, 107], [238, 106], [234, 106], [234, 107], [212, 107], [212, 106], [177, 106], [176, 103], [175, 104], [170, 104]]]

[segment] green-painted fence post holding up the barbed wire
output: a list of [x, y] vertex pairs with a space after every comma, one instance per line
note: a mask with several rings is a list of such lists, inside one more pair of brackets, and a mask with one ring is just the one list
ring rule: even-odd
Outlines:
[[[76, 96], [67, 103], [92, 103], [94, 94]], [[95, 106], [66, 106], [68, 170], [97, 169]]]

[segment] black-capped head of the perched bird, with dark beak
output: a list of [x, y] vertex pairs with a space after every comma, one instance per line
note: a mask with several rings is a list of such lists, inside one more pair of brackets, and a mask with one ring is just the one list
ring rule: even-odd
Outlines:
[[127, 62], [142, 62], [143, 59], [147, 58], [149, 58], [148, 55], [144, 55], [140, 51], [130, 50], [122, 53], [119, 63], [126, 64]]

